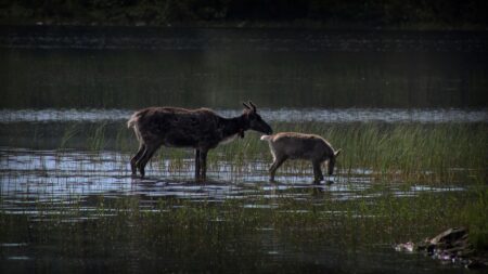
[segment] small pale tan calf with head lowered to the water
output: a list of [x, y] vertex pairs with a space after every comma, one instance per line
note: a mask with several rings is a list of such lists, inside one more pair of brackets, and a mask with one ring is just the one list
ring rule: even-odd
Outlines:
[[328, 171], [332, 175], [335, 159], [341, 153], [341, 149], [334, 151], [328, 141], [314, 134], [280, 132], [274, 135], [262, 135], [261, 140], [268, 141], [273, 155], [273, 164], [269, 169], [270, 181], [274, 181], [277, 169], [286, 159], [305, 159], [311, 160], [314, 182], [318, 183], [323, 180], [321, 164], [328, 161]]

